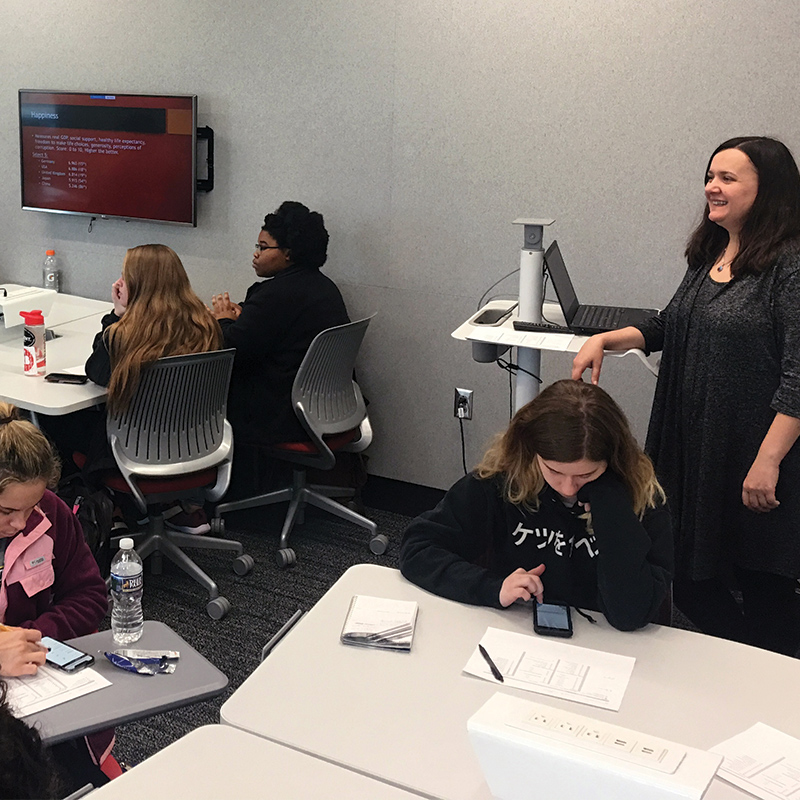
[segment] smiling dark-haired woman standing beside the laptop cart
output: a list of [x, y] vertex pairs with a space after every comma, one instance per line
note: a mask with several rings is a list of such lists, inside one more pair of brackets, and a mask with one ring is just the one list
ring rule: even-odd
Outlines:
[[[785, 145], [723, 142], [705, 176], [689, 269], [666, 309], [593, 336], [662, 350], [646, 450], [667, 493], [676, 605], [705, 633], [800, 646], [800, 173]], [[742, 606], [731, 590], [742, 593]]]

